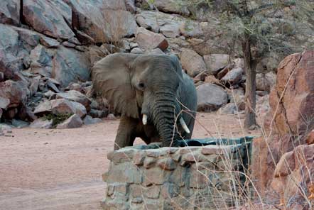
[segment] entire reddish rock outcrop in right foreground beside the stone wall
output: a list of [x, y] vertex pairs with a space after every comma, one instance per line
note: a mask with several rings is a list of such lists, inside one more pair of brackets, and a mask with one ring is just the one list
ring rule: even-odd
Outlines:
[[308, 172], [313, 174], [314, 150], [305, 144], [314, 128], [313, 59], [314, 52], [305, 51], [281, 62], [269, 96], [270, 111], [264, 119], [266, 138], [253, 141], [256, 187], [266, 196], [276, 193], [278, 202], [282, 199], [285, 206], [291, 206], [291, 199], [300, 193], [301, 202], [310, 196]]

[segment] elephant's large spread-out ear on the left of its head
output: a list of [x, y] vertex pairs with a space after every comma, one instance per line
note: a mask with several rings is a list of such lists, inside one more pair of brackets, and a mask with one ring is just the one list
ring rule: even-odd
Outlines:
[[93, 89], [97, 96], [106, 98], [114, 111], [132, 118], [139, 118], [130, 68], [136, 57], [138, 55], [115, 53], [99, 60], [92, 67]]

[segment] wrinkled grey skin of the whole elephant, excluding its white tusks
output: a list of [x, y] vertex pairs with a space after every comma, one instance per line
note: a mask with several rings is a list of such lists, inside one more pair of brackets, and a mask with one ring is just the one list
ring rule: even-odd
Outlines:
[[[92, 80], [97, 95], [121, 114], [114, 150], [133, 145], [136, 137], [147, 144], [178, 146], [176, 140], [192, 136], [196, 90], [175, 55], [108, 55], [92, 68]], [[143, 114], [148, 116], [145, 126]], [[190, 133], [183, 130], [178, 114]]]

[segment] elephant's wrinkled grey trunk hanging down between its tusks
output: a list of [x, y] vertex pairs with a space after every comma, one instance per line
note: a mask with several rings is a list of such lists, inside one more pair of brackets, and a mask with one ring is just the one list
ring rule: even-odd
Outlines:
[[180, 113], [180, 105], [175, 94], [159, 92], [152, 107], [153, 122], [158, 130], [163, 146], [175, 145], [175, 140], [180, 138], [175, 128], [175, 119]]

